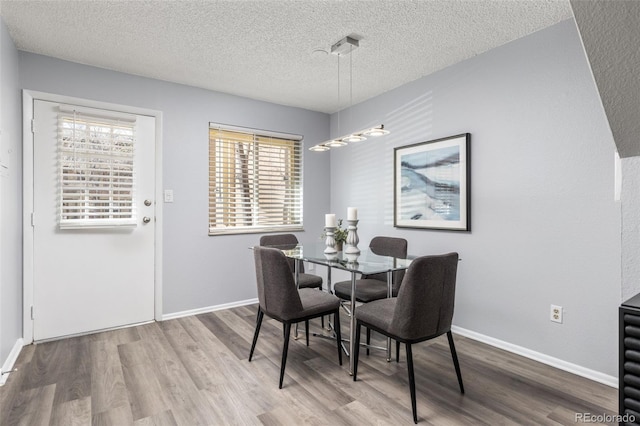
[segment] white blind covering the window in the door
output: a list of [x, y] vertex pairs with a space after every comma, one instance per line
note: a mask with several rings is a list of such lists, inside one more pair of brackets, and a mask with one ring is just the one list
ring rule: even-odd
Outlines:
[[60, 228], [135, 226], [135, 122], [58, 116]]

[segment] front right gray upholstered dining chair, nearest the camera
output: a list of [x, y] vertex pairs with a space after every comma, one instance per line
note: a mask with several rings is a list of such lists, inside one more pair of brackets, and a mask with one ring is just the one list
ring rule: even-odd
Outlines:
[[464, 393], [460, 364], [451, 334], [457, 269], [458, 253], [419, 257], [409, 265], [398, 297], [367, 303], [356, 312], [353, 380], [356, 380], [358, 374], [360, 327], [373, 329], [398, 343], [404, 343], [407, 350], [411, 409], [415, 423], [418, 423], [418, 414], [411, 352], [411, 345], [414, 343], [446, 333], [460, 392]]

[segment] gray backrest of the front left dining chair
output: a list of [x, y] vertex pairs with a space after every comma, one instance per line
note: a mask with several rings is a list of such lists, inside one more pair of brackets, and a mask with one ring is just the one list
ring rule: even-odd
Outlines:
[[302, 302], [284, 253], [276, 248], [256, 246], [253, 256], [258, 301], [264, 313], [278, 319], [288, 319], [300, 312]]

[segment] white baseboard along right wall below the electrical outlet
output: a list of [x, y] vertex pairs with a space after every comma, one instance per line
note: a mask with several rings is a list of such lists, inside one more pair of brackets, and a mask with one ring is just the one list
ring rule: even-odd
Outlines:
[[532, 359], [534, 361], [541, 362], [543, 364], [550, 365], [560, 370], [568, 371], [569, 373], [576, 374], [578, 376], [585, 377], [589, 380], [602, 383], [613, 388], [618, 388], [618, 378], [610, 376], [608, 374], [601, 373], [599, 371], [591, 370], [581, 365], [572, 364], [570, 362], [554, 358], [549, 355], [545, 355], [540, 352], [532, 351], [531, 349], [524, 348], [522, 346], [514, 345], [512, 343], [505, 342], [503, 340], [495, 339], [493, 337], [485, 336], [484, 334], [476, 333], [475, 331], [467, 330], [465, 328], [452, 326], [451, 331], [469, 339], [477, 340], [487, 345], [495, 346], [496, 348], [504, 349], [505, 351], [512, 352], [517, 355]]

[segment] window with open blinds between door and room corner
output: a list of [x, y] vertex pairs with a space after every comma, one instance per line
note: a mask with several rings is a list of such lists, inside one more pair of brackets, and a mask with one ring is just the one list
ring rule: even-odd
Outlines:
[[302, 230], [300, 136], [209, 126], [209, 235]]

